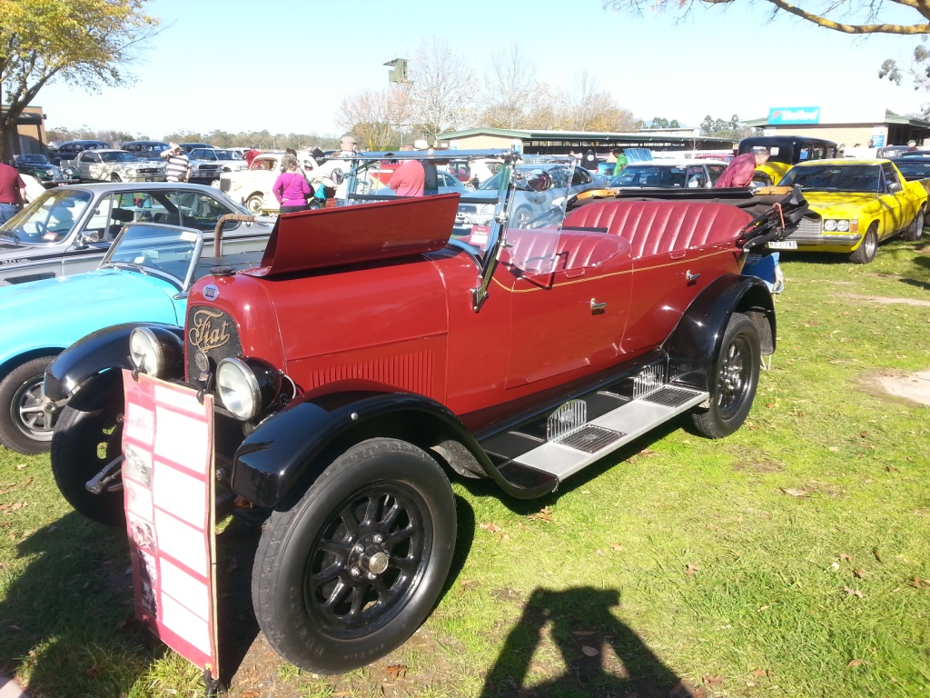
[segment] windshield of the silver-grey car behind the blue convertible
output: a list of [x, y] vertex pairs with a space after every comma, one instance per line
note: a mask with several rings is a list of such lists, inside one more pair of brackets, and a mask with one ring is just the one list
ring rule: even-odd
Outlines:
[[54, 245], [71, 235], [91, 198], [90, 192], [50, 189], [0, 225], [0, 235], [30, 245]]

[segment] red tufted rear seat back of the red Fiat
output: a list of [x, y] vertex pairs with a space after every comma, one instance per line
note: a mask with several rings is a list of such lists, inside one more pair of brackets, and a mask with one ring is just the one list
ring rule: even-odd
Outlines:
[[630, 241], [633, 259], [678, 249], [728, 243], [752, 216], [742, 208], [705, 201], [598, 201], [571, 211], [565, 227], [606, 228]]

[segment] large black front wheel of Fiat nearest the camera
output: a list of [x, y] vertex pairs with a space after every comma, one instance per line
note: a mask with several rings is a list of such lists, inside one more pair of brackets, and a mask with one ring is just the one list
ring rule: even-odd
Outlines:
[[307, 671], [370, 664], [432, 611], [455, 541], [455, 500], [439, 464], [404, 441], [363, 441], [268, 519], [252, 574], [259, 626]]

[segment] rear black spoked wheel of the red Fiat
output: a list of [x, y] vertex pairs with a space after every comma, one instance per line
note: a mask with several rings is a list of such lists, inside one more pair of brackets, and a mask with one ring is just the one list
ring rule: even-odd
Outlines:
[[711, 406], [692, 414], [697, 431], [723, 438], [740, 427], [752, 407], [761, 358], [759, 331], [749, 317], [734, 313], [711, 373]]

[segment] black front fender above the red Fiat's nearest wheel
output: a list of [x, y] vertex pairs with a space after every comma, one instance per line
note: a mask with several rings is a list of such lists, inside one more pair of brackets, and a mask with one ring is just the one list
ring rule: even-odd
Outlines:
[[[390, 422], [390, 425], [387, 425]], [[397, 432], [421, 436], [422, 445], [453, 438], [468, 450], [504, 491], [537, 497], [556, 484], [532, 474], [522, 482], [503, 477], [469, 430], [444, 405], [412, 393], [344, 393], [295, 400], [259, 424], [235, 452], [231, 486], [259, 506], [273, 507], [302, 493], [326, 469], [327, 449]], [[413, 439], [418, 440], [418, 439]], [[432, 445], [431, 444], [431, 445]]]

